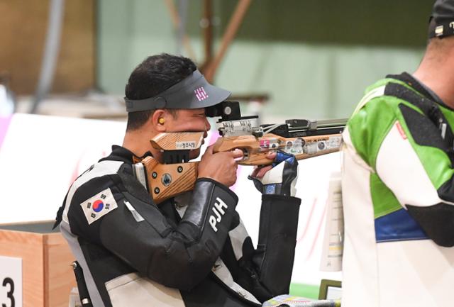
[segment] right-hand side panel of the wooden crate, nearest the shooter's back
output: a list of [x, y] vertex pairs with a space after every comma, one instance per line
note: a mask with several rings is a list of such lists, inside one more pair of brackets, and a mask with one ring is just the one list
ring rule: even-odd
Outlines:
[[71, 289], [76, 286], [71, 263], [74, 256], [61, 233], [44, 235], [46, 307], [66, 307]]

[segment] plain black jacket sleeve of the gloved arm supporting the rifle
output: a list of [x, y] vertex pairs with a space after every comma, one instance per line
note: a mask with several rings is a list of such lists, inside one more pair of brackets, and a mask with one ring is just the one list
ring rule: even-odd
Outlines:
[[222, 258], [233, 279], [259, 301], [289, 293], [300, 202], [291, 196], [262, 196], [256, 249], [240, 219], [233, 221], [228, 236], [231, 244], [224, 247]]

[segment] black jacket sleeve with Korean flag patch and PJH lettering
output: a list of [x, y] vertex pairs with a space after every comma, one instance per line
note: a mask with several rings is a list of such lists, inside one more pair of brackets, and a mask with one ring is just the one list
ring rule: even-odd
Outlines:
[[[118, 174], [94, 178], [77, 189], [68, 213], [72, 233], [106, 247], [160, 284], [192, 289], [220, 255], [238, 198], [218, 182], [199, 179], [182, 221], [172, 227], [124, 165]], [[111, 193], [114, 201], [109, 213], [93, 221], [86, 200], [100, 191], [106, 191], [107, 199]]]

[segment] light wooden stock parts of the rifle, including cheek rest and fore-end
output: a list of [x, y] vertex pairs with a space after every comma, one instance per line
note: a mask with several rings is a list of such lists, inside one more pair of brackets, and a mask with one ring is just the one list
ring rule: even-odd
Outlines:
[[[336, 152], [341, 147], [341, 131], [319, 135], [306, 135], [284, 138], [273, 133], [261, 137], [254, 135], [224, 136], [214, 144], [214, 152], [231, 151], [236, 148], [243, 150], [244, 158], [241, 165], [266, 165], [272, 160], [266, 158], [270, 150], [282, 150], [294, 155], [297, 160], [326, 155]], [[181, 162], [189, 160], [189, 150], [199, 150], [204, 132], [198, 133], [161, 133], [150, 140], [155, 149], [163, 155], [172, 152], [175, 157], [167, 157], [170, 164], [160, 164], [153, 157], [145, 157], [141, 163], [145, 167], [148, 191], [155, 203], [192, 191], [197, 179], [199, 162]], [[182, 158], [180, 152], [186, 152]]]

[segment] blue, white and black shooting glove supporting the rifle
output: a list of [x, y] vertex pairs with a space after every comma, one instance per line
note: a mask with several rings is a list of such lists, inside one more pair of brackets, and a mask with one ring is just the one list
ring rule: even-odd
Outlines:
[[262, 178], [248, 176], [262, 194], [295, 196], [298, 177], [298, 160], [294, 155], [277, 152], [272, 169]]

